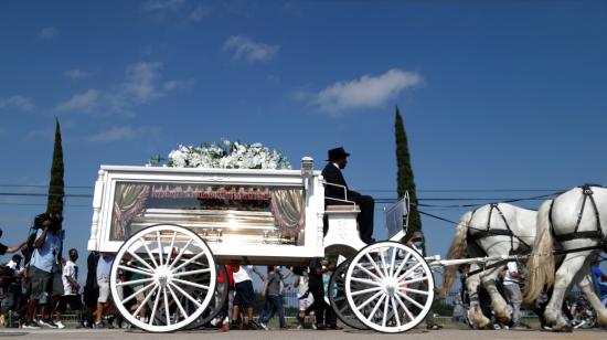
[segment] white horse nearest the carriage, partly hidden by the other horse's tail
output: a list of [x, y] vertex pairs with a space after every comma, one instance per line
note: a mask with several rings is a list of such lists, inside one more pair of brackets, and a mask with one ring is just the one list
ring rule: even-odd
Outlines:
[[[529, 251], [535, 240], [536, 212], [508, 203], [487, 204], [465, 213], [457, 226], [447, 258], [461, 258], [467, 249], [470, 257], [502, 256]], [[510, 230], [510, 232], [509, 232]], [[470, 272], [479, 269], [477, 264]], [[491, 309], [501, 323], [509, 323], [511, 310], [496, 287], [500, 267], [484, 270], [467, 278], [470, 294], [468, 317], [478, 329], [492, 328], [491, 320], [483, 316], [478, 300], [478, 287], [482, 281], [491, 297]], [[455, 279], [455, 266], [446, 267], [441, 295], [446, 296]]]

